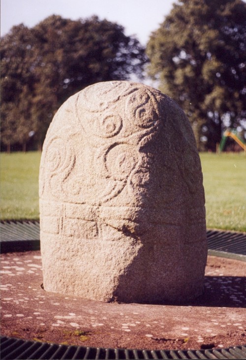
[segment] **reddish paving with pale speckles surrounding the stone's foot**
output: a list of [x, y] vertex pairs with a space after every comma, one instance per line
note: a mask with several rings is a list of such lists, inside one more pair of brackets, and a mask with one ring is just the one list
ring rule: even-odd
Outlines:
[[211, 349], [246, 344], [246, 262], [208, 257], [204, 294], [119, 304], [47, 293], [39, 251], [1, 255], [1, 335], [92, 347]]

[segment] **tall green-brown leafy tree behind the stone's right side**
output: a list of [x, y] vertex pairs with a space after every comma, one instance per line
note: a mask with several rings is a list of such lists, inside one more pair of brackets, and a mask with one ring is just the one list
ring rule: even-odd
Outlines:
[[246, 130], [246, 3], [179, 0], [147, 44], [149, 73], [184, 109], [197, 147], [224, 127]]

